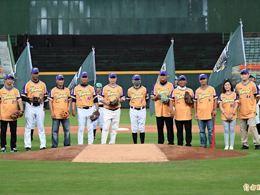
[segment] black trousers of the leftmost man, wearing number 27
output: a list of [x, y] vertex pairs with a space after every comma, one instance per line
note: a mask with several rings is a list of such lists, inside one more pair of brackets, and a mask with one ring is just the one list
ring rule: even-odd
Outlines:
[[1, 120], [1, 148], [6, 148], [6, 132], [7, 132], [7, 124], [10, 125], [11, 132], [11, 148], [16, 147], [16, 128], [17, 128], [17, 120]]

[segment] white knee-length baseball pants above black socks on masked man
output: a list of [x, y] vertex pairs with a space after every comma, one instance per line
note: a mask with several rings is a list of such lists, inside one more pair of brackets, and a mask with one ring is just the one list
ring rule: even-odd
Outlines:
[[145, 132], [145, 121], [146, 121], [146, 109], [136, 110], [130, 108], [129, 110], [131, 128], [133, 133], [137, 133], [138, 129], [140, 133]]

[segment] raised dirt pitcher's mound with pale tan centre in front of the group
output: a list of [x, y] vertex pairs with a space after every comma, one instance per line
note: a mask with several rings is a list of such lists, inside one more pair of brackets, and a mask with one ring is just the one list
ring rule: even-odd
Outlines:
[[82, 163], [140, 163], [227, 158], [243, 155], [247, 155], [247, 153], [163, 144], [116, 144], [68, 146], [2, 155], [0, 159], [55, 160]]

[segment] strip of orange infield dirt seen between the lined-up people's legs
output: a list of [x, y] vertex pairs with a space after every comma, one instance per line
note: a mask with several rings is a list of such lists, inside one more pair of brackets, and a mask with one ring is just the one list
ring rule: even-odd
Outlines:
[[[131, 125], [120, 125], [119, 127], [122, 128], [128, 128], [128, 131], [118, 131], [118, 133], [131, 133]], [[51, 126], [45, 126], [45, 133], [46, 134], [51, 134]], [[62, 132], [62, 127], [59, 127], [59, 133], [63, 134]], [[85, 129], [86, 130], [86, 129]], [[165, 132], [166, 132], [166, 127], [165, 127]], [[98, 132], [100, 130], [98, 129]], [[174, 131], [176, 131], [176, 128], [174, 127]], [[145, 132], [147, 133], [156, 133], [157, 132], [157, 126], [156, 125], [146, 125], [145, 126]], [[199, 126], [198, 125], [192, 125], [192, 133], [198, 133], [200, 132]], [[223, 133], [223, 125], [215, 125], [215, 132], [216, 133]], [[240, 133], [239, 131], [239, 125], [236, 125], [235, 127], [235, 132]], [[71, 134], [77, 134], [78, 133], [78, 126], [71, 126]], [[249, 134], [251, 133], [250, 131], [248, 132]], [[35, 135], [38, 134], [38, 129], [37, 127], [35, 128]], [[7, 135], [10, 135], [10, 131], [7, 131]], [[17, 135], [24, 135], [24, 127], [17, 127]]]

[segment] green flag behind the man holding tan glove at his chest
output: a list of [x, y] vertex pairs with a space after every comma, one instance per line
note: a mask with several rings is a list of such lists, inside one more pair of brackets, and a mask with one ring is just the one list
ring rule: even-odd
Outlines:
[[[171, 83], [175, 83], [175, 61], [174, 61], [174, 50], [173, 50], [173, 40], [171, 40], [172, 44], [166, 54], [163, 66], [161, 66], [160, 70], [164, 70], [168, 72], [168, 81]], [[159, 82], [159, 76], [157, 77], [156, 83]], [[155, 113], [154, 109], [154, 101], [150, 100], [150, 115], [152, 116]]]

